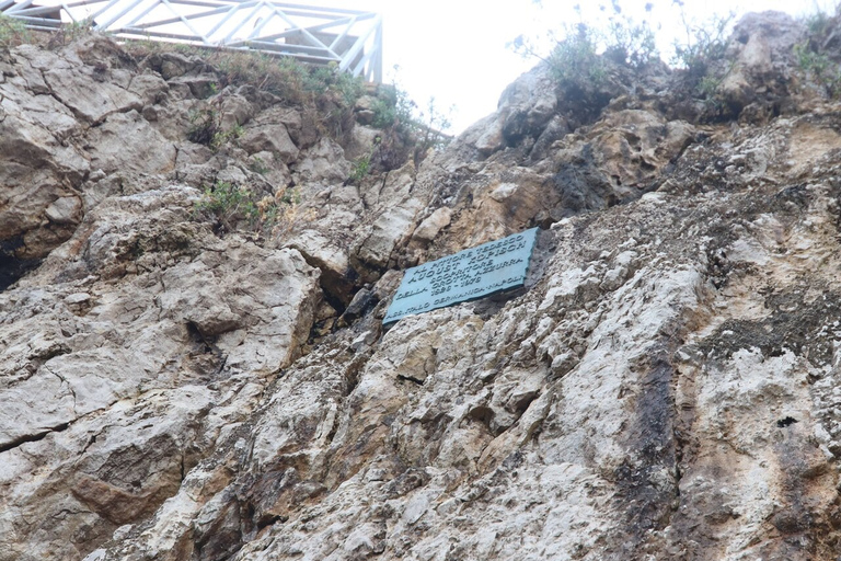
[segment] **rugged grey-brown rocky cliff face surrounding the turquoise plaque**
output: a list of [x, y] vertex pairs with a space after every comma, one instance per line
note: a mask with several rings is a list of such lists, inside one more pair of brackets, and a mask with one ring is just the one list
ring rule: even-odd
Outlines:
[[[538, 68], [358, 185], [381, 133], [200, 58], [3, 54], [0, 560], [834, 560], [841, 104], [805, 33], [742, 20], [712, 117], [667, 69], [587, 113]], [[208, 104], [237, 142], [189, 140]], [[243, 229], [197, 211], [220, 182], [301, 202]], [[527, 290], [383, 331], [403, 268], [532, 226]]]

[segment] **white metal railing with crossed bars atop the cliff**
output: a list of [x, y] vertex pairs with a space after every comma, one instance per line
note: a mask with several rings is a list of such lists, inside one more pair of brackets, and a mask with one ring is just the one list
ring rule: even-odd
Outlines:
[[375, 12], [268, 0], [0, 0], [30, 28], [87, 24], [116, 37], [257, 50], [382, 81], [382, 18]]

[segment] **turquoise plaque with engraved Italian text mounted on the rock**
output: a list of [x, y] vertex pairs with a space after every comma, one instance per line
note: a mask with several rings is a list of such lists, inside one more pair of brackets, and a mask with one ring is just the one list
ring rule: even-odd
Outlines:
[[382, 322], [522, 286], [537, 238], [532, 228], [407, 270]]

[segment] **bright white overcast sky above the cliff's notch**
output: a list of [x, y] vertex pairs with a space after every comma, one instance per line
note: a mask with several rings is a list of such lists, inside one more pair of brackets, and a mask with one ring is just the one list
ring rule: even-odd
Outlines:
[[[679, 30], [671, 0], [620, 0], [636, 19], [645, 16], [646, 1], [654, 4], [654, 20], [660, 18], [660, 38]], [[506, 48], [520, 34], [540, 34], [557, 28], [564, 21], [577, 22], [572, 9], [576, 1], [543, 0], [542, 10], [531, 0], [322, 0], [322, 5], [375, 10], [383, 14], [385, 80], [400, 65], [398, 81], [420, 105], [436, 98], [440, 108], [456, 106], [452, 133], [492, 113], [499, 94], [537, 60], [523, 60]], [[599, 1], [580, 1], [596, 10]], [[606, 0], [606, 3], [607, 0]], [[686, 0], [687, 13], [701, 20], [729, 11], [781, 10], [792, 14], [815, 11], [816, 5], [832, 11], [832, 0]], [[667, 58], [667, 55], [664, 56]]]

